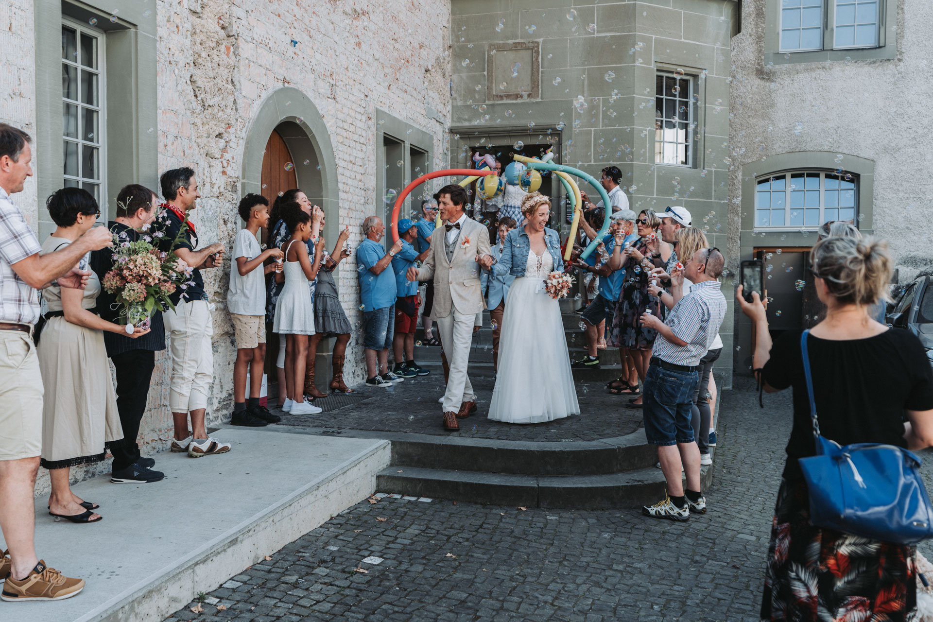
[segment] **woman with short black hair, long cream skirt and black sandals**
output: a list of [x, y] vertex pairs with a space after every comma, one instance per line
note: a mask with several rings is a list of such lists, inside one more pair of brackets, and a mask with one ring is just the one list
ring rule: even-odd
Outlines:
[[[84, 235], [101, 213], [87, 190], [65, 187], [46, 201], [58, 228], [42, 244], [42, 253], [54, 253]], [[82, 269], [87, 257], [81, 259]], [[49, 514], [71, 522], [101, 520], [71, 491], [70, 469], [99, 463], [105, 446], [123, 437], [117, 396], [110, 380], [104, 331], [126, 335], [126, 326], [107, 322], [91, 312], [97, 306], [101, 281], [91, 271], [84, 290], [52, 285], [44, 297], [49, 311], [43, 316], [37, 353], [43, 386], [49, 388], [42, 408], [42, 461], [49, 469]], [[149, 329], [134, 328], [132, 337]], [[152, 472], [154, 473], [154, 472]], [[152, 476], [150, 476], [152, 477]], [[158, 481], [161, 477], [154, 477]]]

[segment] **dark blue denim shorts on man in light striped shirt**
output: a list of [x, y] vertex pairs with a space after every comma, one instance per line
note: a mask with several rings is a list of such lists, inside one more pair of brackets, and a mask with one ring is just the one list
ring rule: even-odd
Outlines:
[[675, 445], [694, 441], [693, 390], [699, 381], [695, 371], [675, 371], [648, 366], [645, 376], [645, 435], [651, 445]]

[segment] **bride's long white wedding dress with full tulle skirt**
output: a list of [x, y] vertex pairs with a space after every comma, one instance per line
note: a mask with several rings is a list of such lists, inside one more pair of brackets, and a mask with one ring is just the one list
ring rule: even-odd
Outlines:
[[528, 253], [525, 275], [508, 287], [489, 418], [540, 423], [579, 414], [561, 306], [544, 290], [550, 253]]

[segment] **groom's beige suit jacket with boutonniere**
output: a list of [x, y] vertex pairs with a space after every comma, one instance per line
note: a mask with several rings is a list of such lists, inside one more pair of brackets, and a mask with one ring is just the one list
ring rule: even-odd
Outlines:
[[418, 281], [434, 281], [434, 317], [446, 317], [453, 311], [479, 313], [486, 308], [480, 287], [478, 256], [492, 255], [489, 230], [467, 217], [455, 242], [453, 260], [444, 252], [446, 229], [441, 225], [431, 234], [431, 251], [418, 270]]

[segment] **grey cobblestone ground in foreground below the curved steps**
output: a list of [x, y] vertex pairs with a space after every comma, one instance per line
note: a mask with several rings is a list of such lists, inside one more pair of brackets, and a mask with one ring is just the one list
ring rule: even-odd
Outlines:
[[192, 602], [170, 619], [757, 620], [790, 393], [761, 410], [752, 385], [736, 384], [704, 516], [383, 498], [270, 552], [200, 615]]

